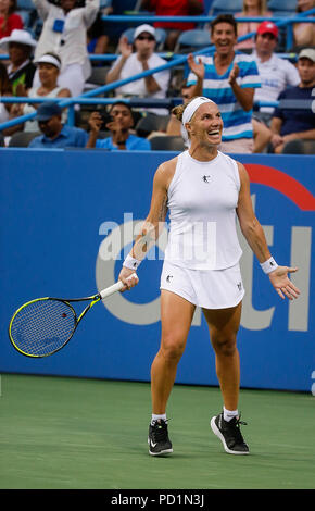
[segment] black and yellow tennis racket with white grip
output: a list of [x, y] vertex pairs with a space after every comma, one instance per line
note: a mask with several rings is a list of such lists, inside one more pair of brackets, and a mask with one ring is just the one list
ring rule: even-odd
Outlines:
[[[135, 273], [128, 278], [137, 276]], [[98, 301], [124, 287], [122, 281], [98, 295], [85, 298], [36, 298], [24, 303], [13, 314], [9, 324], [9, 338], [14, 348], [25, 357], [49, 357], [61, 350], [74, 335], [79, 322]], [[72, 303], [89, 301], [77, 315]]]

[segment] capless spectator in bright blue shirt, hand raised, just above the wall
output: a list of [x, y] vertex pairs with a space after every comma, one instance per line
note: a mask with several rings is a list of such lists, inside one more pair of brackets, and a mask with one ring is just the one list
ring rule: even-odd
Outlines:
[[90, 136], [87, 148], [102, 148], [110, 151], [150, 151], [151, 146], [146, 138], [137, 137], [130, 133], [134, 126], [133, 111], [127, 103], [116, 102], [110, 111], [110, 122], [105, 127], [111, 132], [111, 136], [99, 139], [103, 119], [99, 112], [92, 112], [89, 117]]

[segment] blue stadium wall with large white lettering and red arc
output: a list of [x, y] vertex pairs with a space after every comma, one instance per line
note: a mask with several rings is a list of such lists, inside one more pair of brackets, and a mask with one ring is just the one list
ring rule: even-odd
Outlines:
[[[147, 215], [152, 177], [174, 153], [1, 149], [0, 371], [149, 381], [159, 349], [159, 282], [165, 237], [139, 269], [140, 284], [98, 303], [60, 352], [21, 356], [8, 324], [23, 302], [75, 298], [112, 284], [134, 227]], [[245, 287], [239, 350], [241, 386], [311, 391], [315, 378], [314, 157], [239, 155], [270, 251], [297, 265], [302, 295], [282, 301], [241, 238]], [[122, 229], [122, 226], [125, 228]], [[112, 254], [112, 257], [109, 257]], [[155, 258], [154, 258], [155, 256]], [[112, 258], [116, 258], [116, 261]], [[197, 310], [177, 383], [217, 385], [207, 328]]]

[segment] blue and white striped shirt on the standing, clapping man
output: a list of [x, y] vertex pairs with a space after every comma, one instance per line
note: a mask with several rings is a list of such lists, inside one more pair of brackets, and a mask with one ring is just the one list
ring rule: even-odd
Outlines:
[[[219, 108], [224, 122], [223, 141], [239, 138], [253, 138], [252, 113], [245, 112], [237, 100], [228, 83], [229, 74], [235, 64], [239, 66], [237, 83], [241, 88], [261, 87], [257, 65], [251, 55], [236, 52], [232, 62], [223, 75], [218, 75], [213, 55], [201, 57], [204, 64], [202, 95], [212, 99]], [[189, 73], [187, 85], [194, 85], [197, 77]]]

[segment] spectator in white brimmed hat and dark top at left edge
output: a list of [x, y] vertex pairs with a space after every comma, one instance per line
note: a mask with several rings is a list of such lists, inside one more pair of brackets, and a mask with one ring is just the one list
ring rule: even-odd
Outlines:
[[17, 87], [25, 89], [32, 87], [36, 67], [32, 62], [36, 40], [27, 30], [15, 29], [11, 36], [0, 39], [0, 47], [9, 51], [10, 64], [8, 66], [9, 79], [14, 96], [18, 96]]

